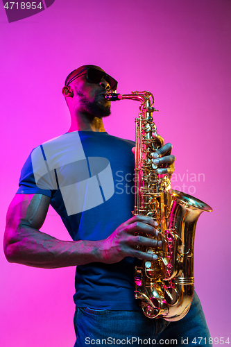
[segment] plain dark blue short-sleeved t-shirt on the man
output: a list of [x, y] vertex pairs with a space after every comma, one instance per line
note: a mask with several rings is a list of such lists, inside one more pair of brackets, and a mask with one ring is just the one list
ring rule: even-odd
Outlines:
[[[74, 131], [34, 149], [17, 194], [44, 194], [74, 240], [107, 238], [134, 209], [135, 142], [108, 133]], [[76, 268], [77, 307], [139, 310], [135, 258]]]

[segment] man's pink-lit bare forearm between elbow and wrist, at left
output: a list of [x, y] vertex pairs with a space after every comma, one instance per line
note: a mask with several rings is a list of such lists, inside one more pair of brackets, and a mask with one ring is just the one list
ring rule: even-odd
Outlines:
[[5, 240], [4, 251], [8, 262], [55, 269], [102, 261], [100, 244], [101, 241], [61, 241], [29, 226], [20, 226], [17, 237], [10, 242]]

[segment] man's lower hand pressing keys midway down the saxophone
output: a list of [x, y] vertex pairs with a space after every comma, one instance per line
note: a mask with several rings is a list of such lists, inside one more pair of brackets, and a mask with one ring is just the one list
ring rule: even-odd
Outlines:
[[[153, 261], [157, 255], [139, 251], [137, 246], [161, 247], [161, 241], [153, 239], [158, 232], [155, 230], [157, 223], [150, 217], [137, 215], [122, 223], [112, 234], [101, 242], [99, 252], [102, 255], [101, 262], [112, 264], [119, 262], [124, 257], [138, 257]], [[141, 235], [135, 236], [136, 232], [144, 232], [151, 235], [150, 238]]]

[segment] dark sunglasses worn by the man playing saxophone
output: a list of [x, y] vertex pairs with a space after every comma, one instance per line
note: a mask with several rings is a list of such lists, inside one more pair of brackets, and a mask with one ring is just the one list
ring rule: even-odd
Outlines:
[[87, 81], [90, 83], [100, 83], [103, 79], [107, 81], [110, 84], [110, 90], [113, 92], [117, 91], [117, 84], [118, 82], [110, 75], [106, 74], [103, 71], [94, 69], [94, 67], [85, 67], [83, 70], [78, 72], [75, 76], [73, 76], [69, 82], [67, 82], [67, 86], [74, 81], [76, 78], [80, 77], [79, 75], [82, 74], [83, 71], [87, 70]]

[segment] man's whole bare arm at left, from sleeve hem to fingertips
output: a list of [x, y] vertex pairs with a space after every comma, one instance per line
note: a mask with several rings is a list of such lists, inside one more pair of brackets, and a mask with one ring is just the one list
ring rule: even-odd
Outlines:
[[[157, 241], [135, 236], [145, 232], [155, 236], [155, 222], [145, 216], [135, 216], [121, 224], [100, 241], [61, 241], [40, 232], [46, 218], [50, 198], [42, 194], [16, 194], [8, 209], [4, 252], [8, 262], [54, 269], [90, 262], [114, 263], [123, 257], [155, 260], [156, 255], [144, 253], [137, 246], [156, 247]], [[160, 244], [159, 244], [160, 246]]]

